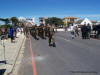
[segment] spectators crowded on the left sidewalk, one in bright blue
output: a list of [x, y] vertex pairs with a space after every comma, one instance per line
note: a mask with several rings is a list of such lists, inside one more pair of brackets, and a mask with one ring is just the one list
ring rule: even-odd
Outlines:
[[0, 39], [11, 39], [11, 43], [14, 43], [15, 38], [17, 38], [17, 33], [23, 32], [22, 27], [10, 26], [9, 28], [1, 28], [0, 29]]

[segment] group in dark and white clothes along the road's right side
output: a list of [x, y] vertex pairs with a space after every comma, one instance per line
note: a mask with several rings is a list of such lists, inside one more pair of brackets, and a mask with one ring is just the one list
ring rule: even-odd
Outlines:
[[[92, 32], [94, 33], [92, 34]], [[82, 37], [82, 39], [90, 39], [91, 37], [98, 39], [100, 37], [100, 25], [91, 27], [89, 24], [84, 24], [81, 27], [78, 27], [72, 24], [70, 26], [70, 33], [72, 39], [77, 36]]]

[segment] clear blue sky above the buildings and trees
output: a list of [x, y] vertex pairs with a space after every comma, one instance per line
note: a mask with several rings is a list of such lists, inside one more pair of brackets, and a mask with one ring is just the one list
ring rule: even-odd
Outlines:
[[100, 0], [0, 0], [0, 17], [100, 18]]

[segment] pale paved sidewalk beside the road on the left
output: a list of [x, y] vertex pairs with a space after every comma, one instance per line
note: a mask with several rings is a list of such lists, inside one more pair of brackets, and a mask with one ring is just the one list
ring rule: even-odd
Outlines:
[[[15, 65], [16, 59], [18, 57], [18, 54], [20, 52], [20, 49], [24, 40], [25, 40], [24, 34], [18, 35], [18, 38], [15, 39], [15, 43], [11, 43], [10, 39], [4, 40], [5, 58], [6, 58], [7, 64], [0, 63], [0, 70], [5, 70], [4, 75], [7, 75], [13, 70], [13, 67]], [[1, 45], [1, 41], [0, 41], [0, 61], [4, 61], [4, 60], [5, 60], [4, 48]]]

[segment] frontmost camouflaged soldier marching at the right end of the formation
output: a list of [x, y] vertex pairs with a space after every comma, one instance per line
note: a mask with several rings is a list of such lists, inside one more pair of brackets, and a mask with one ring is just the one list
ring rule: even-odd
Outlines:
[[53, 46], [53, 47], [56, 47], [56, 44], [55, 44], [55, 32], [54, 32], [54, 26], [52, 26], [52, 24], [49, 26], [49, 46]]

